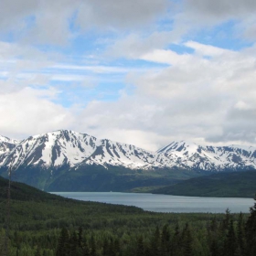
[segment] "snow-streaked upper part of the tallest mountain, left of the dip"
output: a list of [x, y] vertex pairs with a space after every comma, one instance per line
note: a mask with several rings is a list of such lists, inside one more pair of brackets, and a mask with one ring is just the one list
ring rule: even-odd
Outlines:
[[130, 144], [99, 140], [88, 134], [60, 130], [31, 136], [21, 141], [2, 160], [0, 166], [40, 165], [123, 165], [128, 168], [147, 168], [154, 164], [155, 153]]

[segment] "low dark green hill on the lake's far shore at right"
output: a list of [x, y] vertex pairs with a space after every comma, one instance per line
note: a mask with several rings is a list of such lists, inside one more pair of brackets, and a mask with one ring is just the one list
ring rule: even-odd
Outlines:
[[256, 171], [218, 173], [191, 178], [152, 192], [191, 197], [254, 197], [255, 181]]

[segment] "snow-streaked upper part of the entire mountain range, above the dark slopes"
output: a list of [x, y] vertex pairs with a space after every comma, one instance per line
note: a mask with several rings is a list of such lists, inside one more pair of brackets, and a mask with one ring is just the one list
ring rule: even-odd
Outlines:
[[19, 143], [0, 137], [0, 168], [40, 166], [45, 169], [84, 165], [123, 166], [152, 170], [179, 168], [184, 170], [256, 169], [256, 148], [246, 146], [202, 146], [173, 142], [150, 152], [131, 144], [97, 139], [86, 133], [60, 130], [35, 135]]

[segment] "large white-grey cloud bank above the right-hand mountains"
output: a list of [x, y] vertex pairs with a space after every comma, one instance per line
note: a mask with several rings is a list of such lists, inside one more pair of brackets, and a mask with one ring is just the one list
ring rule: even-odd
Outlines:
[[144, 55], [142, 59], [169, 67], [130, 73], [127, 82], [135, 87], [133, 95], [91, 102], [74, 127], [147, 149], [183, 139], [256, 144], [256, 59], [251, 55], [255, 48], [235, 52], [192, 41], [185, 44], [195, 52], [154, 50]]

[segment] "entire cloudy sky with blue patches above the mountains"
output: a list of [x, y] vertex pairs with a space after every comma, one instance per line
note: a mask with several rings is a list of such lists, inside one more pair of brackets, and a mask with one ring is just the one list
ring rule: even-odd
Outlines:
[[1, 0], [0, 134], [256, 145], [255, 0]]

